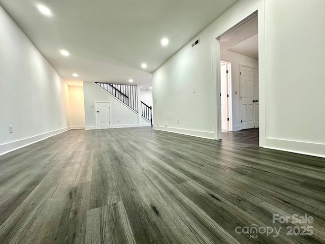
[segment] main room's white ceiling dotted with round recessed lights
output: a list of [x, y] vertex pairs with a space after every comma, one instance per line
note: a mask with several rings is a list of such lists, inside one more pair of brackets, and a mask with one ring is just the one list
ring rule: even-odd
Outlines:
[[[237, 1], [0, 0], [0, 5], [64, 80], [133, 79], [132, 84], [150, 86], [154, 70]], [[38, 5], [52, 15], [42, 15]], [[170, 40], [166, 47], [160, 45], [164, 37]]]

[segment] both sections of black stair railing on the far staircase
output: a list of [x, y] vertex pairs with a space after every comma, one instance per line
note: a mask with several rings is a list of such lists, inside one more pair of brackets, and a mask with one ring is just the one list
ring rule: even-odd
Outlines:
[[[136, 85], [107, 84], [99, 82], [95, 83], [139, 114], [138, 87]], [[150, 122], [152, 126], [152, 107], [148, 106], [142, 101], [141, 116]]]

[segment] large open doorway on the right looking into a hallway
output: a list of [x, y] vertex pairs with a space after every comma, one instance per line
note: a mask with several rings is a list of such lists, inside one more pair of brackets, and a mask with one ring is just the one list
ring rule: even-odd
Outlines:
[[[220, 43], [221, 131], [258, 128], [257, 13], [231, 28], [218, 40]], [[225, 75], [226, 68], [228, 68], [228, 73]], [[228, 87], [226, 86], [227, 79]], [[227, 101], [227, 95], [229, 95], [229, 101]]]

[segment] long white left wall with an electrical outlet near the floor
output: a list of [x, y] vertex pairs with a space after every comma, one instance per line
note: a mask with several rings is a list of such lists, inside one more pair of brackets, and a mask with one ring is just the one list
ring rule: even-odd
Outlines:
[[67, 130], [70, 121], [68, 85], [1, 6], [0, 43], [2, 154]]

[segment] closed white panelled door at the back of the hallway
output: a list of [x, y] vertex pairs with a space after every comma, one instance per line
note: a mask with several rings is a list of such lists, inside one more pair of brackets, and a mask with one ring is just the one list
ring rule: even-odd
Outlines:
[[241, 129], [254, 128], [254, 69], [240, 66]]

